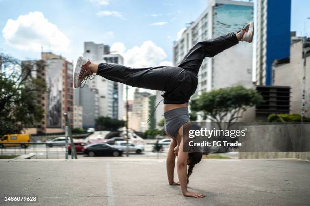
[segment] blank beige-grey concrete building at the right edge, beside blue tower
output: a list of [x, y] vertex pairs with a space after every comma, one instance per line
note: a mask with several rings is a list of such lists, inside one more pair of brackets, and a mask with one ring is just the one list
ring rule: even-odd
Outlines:
[[[310, 40], [307, 41], [310, 43]], [[292, 36], [290, 56], [275, 60], [272, 71], [272, 84], [291, 87], [290, 113], [302, 112], [302, 79], [303, 79], [303, 42], [301, 37]], [[310, 52], [306, 54], [306, 68], [309, 68]], [[306, 69], [305, 82], [305, 116], [310, 117], [310, 70]]]

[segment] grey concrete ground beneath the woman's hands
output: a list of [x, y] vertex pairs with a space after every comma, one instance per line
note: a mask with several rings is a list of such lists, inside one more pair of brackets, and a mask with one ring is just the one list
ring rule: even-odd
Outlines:
[[[195, 166], [184, 197], [170, 186], [165, 159], [0, 161], [0, 205], [309, 205], [310, 162], [210, 159]], [[175, 174], [175, 180], [177, 176]], [[36, 196], [37, 203], [5, 202]]]

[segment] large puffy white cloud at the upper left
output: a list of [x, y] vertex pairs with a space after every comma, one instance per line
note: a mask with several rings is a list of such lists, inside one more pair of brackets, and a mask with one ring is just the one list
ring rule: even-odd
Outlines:
[[41, 46], [55, 51], [65, 51], [69, 39], [55, 24], [49, 22], [41, 12], [20, 15], [9, 19], [2, 30], [6, 43], [21, 50], [39, 52]]

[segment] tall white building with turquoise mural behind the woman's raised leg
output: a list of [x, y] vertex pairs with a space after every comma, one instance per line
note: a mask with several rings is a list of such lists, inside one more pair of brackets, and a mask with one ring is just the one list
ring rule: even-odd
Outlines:
[[[205, 11], [195, 22], [189, 24], [181, 38], [174, 43], [174, 65], [177, 65], [197, 42], [236, 32], [246, 23], [253, 21], [252, 2], [230, 0], [208, 2]], [[205, 58], [198, 73], [196, 94], [237, 84], [250, 88], [252, 50], [252, 44], [239, 42], [213, 58]]]

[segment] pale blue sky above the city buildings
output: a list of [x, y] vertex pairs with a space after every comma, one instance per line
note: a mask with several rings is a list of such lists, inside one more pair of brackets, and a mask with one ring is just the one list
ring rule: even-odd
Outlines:
[[[56, 25], [56, 30], [60, 32], [60, 40], [54, 39], [54, 44], [47, 44], [49, 38], [43, 40], [43, 50], [62, 54], [70, 61], [75, 61], [82, 55], [84, 41], [109, 45], [121, 42], [126, 49], [130, 49], [140, 47], [149, 40], [152, 41], [152, 46], [162, 48], [166, 54], [160, 60], [150, 61], [151, 63], [171, 61], [172, 44], [177, 33], [186, 23], [196, 20], [207, 5], [207, 0], [0, 0], [0, 49], [20, 59], [40, 58], [40, 50], [30, 45], [31, 41], [43, 34], [52, 38], [52, 32], [44, 31], [45, 27], [37, 26], [37, 29], [30, 31], [29, 28], [24, 28], [17, 36], [10, 36], [8, 33], [6, 37], [4, 35], [4, 27], [9, 19], [16, 21], [20, 15], [37, 11], [44, 16], [42, 19], [46, 19], [49, 25]], [[309, 11], [310, 1], [292, 0], [291, 30], [297, 31], [298, 35], [304, 34], [304, 22], [310, 17]], [[27, 20], [24, 19], [23, 22], [25, 24]], [[310, 20], [306, 21], [306, 27], [309, 36]], [[65, 39], [61, 39], [62, 35]], [[10, 38], [14, 45], [8, 44], [6, 38]], [[21, 42], [29, 45], [19, 45]], [[61, 47], [57, 44], [66, 46], [55, 49], [57, 46]]]

